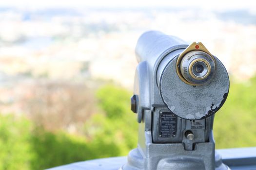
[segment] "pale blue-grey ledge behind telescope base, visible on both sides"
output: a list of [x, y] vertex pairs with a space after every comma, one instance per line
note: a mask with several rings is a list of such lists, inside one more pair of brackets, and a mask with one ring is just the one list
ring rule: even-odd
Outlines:
[[[220, 149], [217, 152], [222, 155], [222, 161], [231, 170], [256, 170], [256, 147]], [[125, 162], [126, 156], [111, 157], [76, 162], [48, 170], [118, 170]]]

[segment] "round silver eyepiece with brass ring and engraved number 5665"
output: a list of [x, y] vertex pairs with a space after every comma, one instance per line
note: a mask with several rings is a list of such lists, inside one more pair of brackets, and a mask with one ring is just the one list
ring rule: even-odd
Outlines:
[[206, 83], [211, 79], [214, 71], [214, 59], [203, 51], [188, 52], [180, 62], [180, 72], [191, 85]]

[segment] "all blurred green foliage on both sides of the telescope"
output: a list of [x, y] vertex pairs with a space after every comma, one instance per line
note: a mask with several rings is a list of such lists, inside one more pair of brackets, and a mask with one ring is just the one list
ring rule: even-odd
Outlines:
[[[216, 114], [217, 148], [255, 146], [256, 77], [232, 83], [228, 99]], [[96, 92], [98, 111], [82, 134], [50, 132], [31, 119], [0, 115], [0, 170], [40, 170], [76, 161], [126, 155], [137, 146], [138, 123], [130, 111], [131, 92], [105, 85]]]

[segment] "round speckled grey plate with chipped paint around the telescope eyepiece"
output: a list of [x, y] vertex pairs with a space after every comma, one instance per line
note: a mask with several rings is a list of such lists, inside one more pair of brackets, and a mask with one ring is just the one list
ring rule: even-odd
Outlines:
[[202, 119], [216, 113], [227, 98], [229, 78], [226, 69], [216, 58], [215, 75], [204, 85], [187, 85], [173, 73], [177, 58], [162, 71], [160, 95], [165, 105], [184, 119]]

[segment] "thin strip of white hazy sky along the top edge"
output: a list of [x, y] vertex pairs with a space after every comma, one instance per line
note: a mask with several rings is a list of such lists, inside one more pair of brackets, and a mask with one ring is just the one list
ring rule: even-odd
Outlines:
[[200, 7], [205, 9], [250, 9], [254, 0], [0, 0], [0, 6], [45, 7]]

